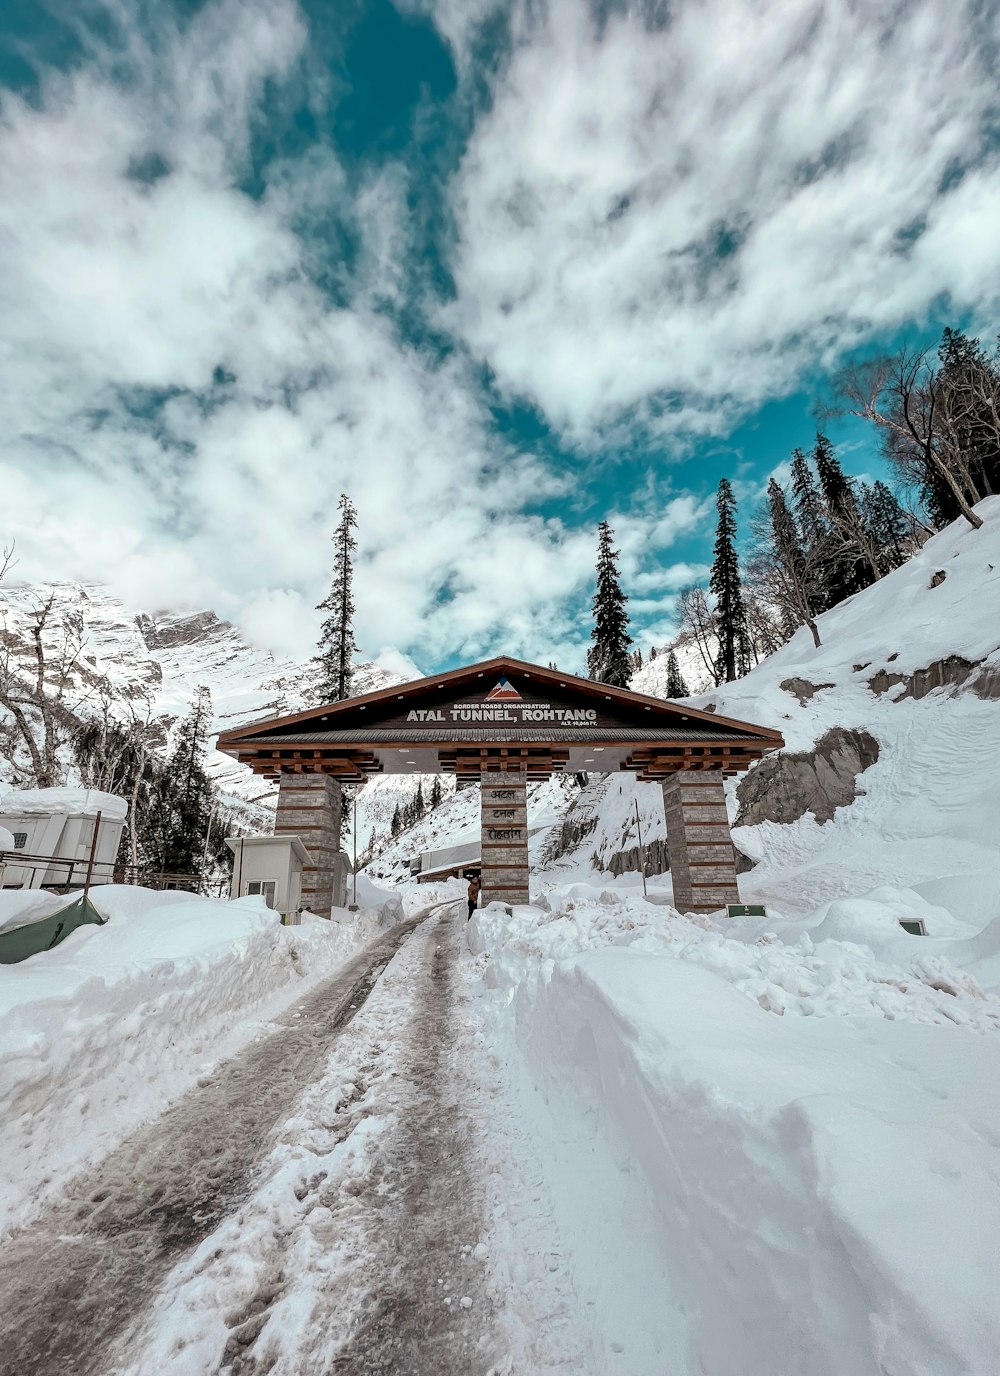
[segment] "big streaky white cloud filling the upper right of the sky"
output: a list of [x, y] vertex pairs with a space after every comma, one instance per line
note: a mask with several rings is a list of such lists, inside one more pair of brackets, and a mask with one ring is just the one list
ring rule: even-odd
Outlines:
[[996, 7], [600, 12], [517, 7], [455, 182], [448, 318], [501, 385], [585, 442], [725, 432], [942, 293], [996, 311]]

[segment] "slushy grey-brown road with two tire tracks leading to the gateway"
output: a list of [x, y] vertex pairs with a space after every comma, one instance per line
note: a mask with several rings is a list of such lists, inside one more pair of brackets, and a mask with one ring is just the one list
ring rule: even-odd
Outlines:
[[[150, 1306], [155, 1310], [168, 1271], [212, 1234], [224, 1233], [227, 1223], [231, 1227], [241, 1204], [253, 1215], [254, 1181], [268, 1139], [311, 1083], [320, 1082], [322, 1090], [333, 1042], [426, 918], [428, 912], [420, 914], [380, 937], [286, 1014], [278, 1032], [220, 1065], [154, 1124], [78, 1176], [67, 1194], [10, 1240], [0, 1262], [10, 1369], [19, 1376], [52, 1370], [84, 1376], [169, 1365], [150, 1351], [129, 1368], [136, 1347], [157, 1346], [157, 1315], [146, 1320], [146, 1313]], [[384, 1142], [380, 1138], [377, 1187], [362, 1190], [366, 1198], [359, 1201], [347, 1182], [345, 1203], [367, 1215], [359, 1222], [377, 1265], [374, 1270], [365, 1267], [363, 1284], [354, 1289], [341, 1284], [337, 1298], [326, 1298], [327, 1307], [340, 1310], [336, 1326], [345, 1336], [329, 1354], [329, 1369], [336, 1372], [426, 1370], [431, 1354], [436, 1372], [476, 1369], [472, 1343], [481, 1310], [473, 1324], [468, 1295], [446, 1303], [450, 1296], [428, 1284], [429, 1271], [435, 1277], [448, 1273], [455, 1237], [476, 1232], [464, 1153], [466, 1130], [461, 1115], [446, 1112], [443, 1102], [442, 1057], [458, 929], [454, 921], [431, 921], [421, 936], [411, 956], [422, 967], [420, 987], [411, 985], [402, 1000], [410, 1022], [406, 1053], [402, 1061], [384, 1057], [377, 1068], [387, 1086], [398, 1077], [409, 1082], [410, 1112], [396, 1115], [392, 1131], [382, 1134]], [[327, 1112], [334, 1139], [343, 1141], [359, 1126], [356, 1116], [344, 1112], [351, 1098], [341, 1097]], [[307, 1203], [318, 1183], [304, 1183]], [[326, 1205], [323, 1214], [333, 1218]], [[224, 1245], [216, 1248], [216, 1255], [224, 1254]], [[282, 1274], [282, 1256], [264, 1256], [263, 1265], [270, 1274]], [[341, 1282], [345, 1278], [338, 1276]], [[183, 1276], [164, 1291], [172, 1296], [177, 1287], [183, 1292]], [[219, 1303], [224, 1288], [221, 1284]], [[282, 1287], [271, 1289], [274, 1300]], [[228, 1340], [221, 1350], [205, 1359], [206, 1354], [188, 1348], [176, 1370], [194, 1376], [270, 1369], [272, 1359], [261, 1354], [257, 1366], [253, 1351], [267, 1317], [257, 1292], [249, 1311], [237, 1315], [241, 1321], [228, 1315]], [[314, 1340], [315, 1335], [311, 1348]], [[176, 1354], [176, 1325], [171, 1346]], [[307, 1358], [303, 1369], [316, 1368]]]

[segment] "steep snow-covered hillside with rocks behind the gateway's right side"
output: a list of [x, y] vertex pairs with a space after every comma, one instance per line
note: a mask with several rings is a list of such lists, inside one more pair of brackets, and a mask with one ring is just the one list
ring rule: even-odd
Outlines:
[[[878, 885], [982, 925], [1000, 912], [1000, 498], [695, 706], [776, 727], [785, 750], [729, 784], [747, 901], [802, 915]], [[634, 685], [656, 694], [660, 656]], [[666, 663], [666, 660], [663, 660]], [[666, 832], [653, 786], [609, 780], [563, 868]], [[569, 815], [572, 816], [572, 815]]]

